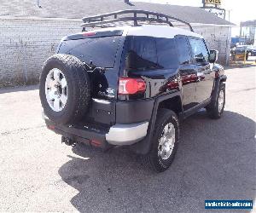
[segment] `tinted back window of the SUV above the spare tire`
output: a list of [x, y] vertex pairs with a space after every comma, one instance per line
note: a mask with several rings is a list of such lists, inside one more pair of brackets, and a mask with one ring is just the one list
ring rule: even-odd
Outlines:
[[59, 53], [74, 55], [86, 63], [91, 60], [95, 66], [113, 67], [120, 39], [115, 36], [68, 40], [61, 43]]

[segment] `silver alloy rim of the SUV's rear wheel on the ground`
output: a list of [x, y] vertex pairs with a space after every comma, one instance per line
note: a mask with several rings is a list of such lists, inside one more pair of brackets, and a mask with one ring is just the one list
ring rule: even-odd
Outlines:
[[175, 127], [172, 123], [166, 124], [162, 131], [159, 145], [158, 156], [164, 160], [168, 159], [173, 151], [175, 143]]

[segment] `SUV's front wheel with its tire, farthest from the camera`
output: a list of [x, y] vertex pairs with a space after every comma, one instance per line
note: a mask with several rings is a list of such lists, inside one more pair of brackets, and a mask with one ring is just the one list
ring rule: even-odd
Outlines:
[[211, 102], [210, 105], [206, 107], [207, 113], [209, 117], [212, 119], [221, 118], [221, 115], [224, 112], [224, 107], [225, 107], [225, 85], [224, 83], [220, 83], [218, 86], [218, 96], [216, 98], [216, 101]]

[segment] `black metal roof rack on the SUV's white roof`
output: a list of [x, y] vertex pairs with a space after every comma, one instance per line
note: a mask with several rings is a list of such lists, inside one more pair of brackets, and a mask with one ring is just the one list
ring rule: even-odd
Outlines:
[[84, 21], [84, 24], [81, 25], [83, 27], [83, 31], [85, 31], [85, 27], [109, 27], [108, 24], [127, 21], [132, 21], [134, 26], [139, 26], [138, 21], [148, 21], [149, 23], [154, 22], [173, 26], [171, 20], [174, 20], [189, 26], [190, 31], [194, 32], [189, 22], [177, 19], [167, 14], [160, 14], [141, 9], [119, 10], [113, 13], [84, 17], [82, 20]]

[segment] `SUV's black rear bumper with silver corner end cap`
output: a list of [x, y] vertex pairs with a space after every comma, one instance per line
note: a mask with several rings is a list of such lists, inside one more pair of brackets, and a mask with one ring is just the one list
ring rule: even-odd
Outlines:
[[44, 117], [49, 130], [73, 141], [79, 141], [96, 147], [108, 149], [111, 145], [131, 145], [141, 141], [148, 131], [148, 122], [138, 124], [115, 124], [109, 129], [98, 130], [82, 125], [55, 124]]

